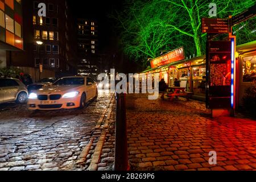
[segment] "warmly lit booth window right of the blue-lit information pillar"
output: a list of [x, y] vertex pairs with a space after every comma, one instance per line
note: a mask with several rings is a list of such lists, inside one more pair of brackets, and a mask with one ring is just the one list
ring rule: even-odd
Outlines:
[[243, 57], [243, 82], [252, 82], [256, 78], [256, 56]]

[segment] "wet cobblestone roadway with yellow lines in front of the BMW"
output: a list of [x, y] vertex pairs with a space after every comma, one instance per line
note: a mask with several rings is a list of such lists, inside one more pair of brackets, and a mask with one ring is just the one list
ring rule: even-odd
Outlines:
[[83, 110], [0, 105], [0, 170], [111, 170], [114, 110], [109, 93]]

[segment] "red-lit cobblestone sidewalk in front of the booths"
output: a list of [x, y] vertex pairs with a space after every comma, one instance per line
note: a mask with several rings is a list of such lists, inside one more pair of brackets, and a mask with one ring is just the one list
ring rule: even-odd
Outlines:
[[[255, 170], [256, 121], [210, 118], [204, 102], [126, 98], [131, 170]], [[209, 164], [217, 152], [217, 165]]]

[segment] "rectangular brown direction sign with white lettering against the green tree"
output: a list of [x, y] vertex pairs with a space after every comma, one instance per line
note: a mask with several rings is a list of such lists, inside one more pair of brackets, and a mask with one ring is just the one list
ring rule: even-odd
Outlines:
[[229, 32], [228, 18], [203, 18], [202, 32], [212, 34], [226, 34]]

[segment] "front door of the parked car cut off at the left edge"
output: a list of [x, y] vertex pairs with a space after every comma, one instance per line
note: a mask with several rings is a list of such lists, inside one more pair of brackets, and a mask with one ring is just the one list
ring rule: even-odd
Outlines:
[[19, 91], [19, 84], [13, 80], [6, 78], [3, 87], [3, 101], [15, 101]]

